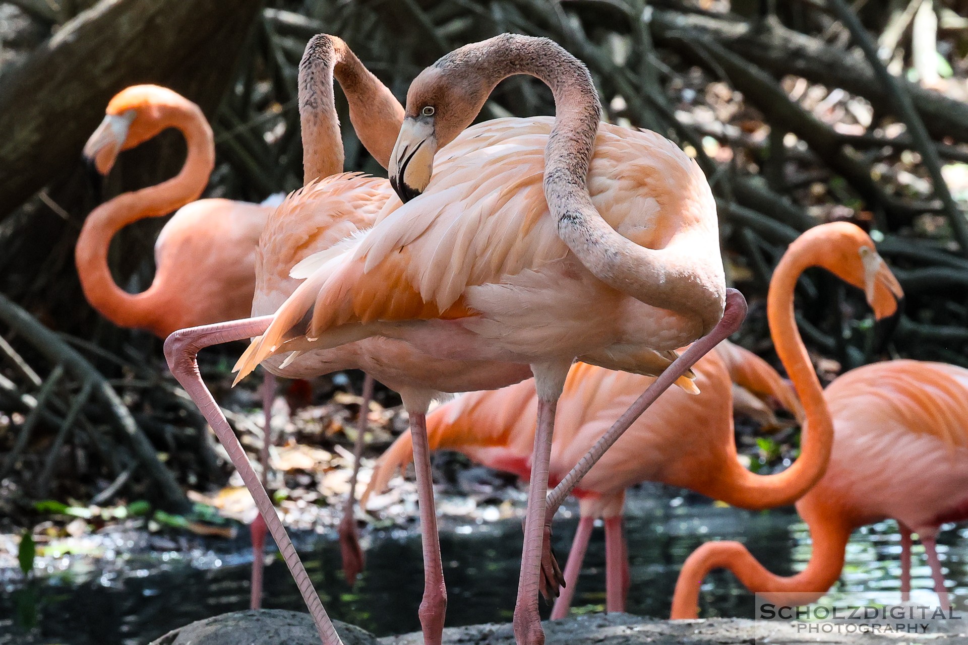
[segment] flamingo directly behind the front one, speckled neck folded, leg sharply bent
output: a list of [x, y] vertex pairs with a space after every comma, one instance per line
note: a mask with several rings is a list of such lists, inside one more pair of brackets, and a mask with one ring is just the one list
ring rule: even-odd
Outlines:
[[[381, 164], [386, 165], [389, 161], [394, 137], [404, 118], [402, 106], [340, 39], [326, 35], [314, 37], [307, 44], [300, 64], [300, 117], [304, 137], [326, 140], [329, 145], [320, 149], [334, 152], [304, 159], [307, 185], [289, 195], [266, 223], [257, 249], [256, 294], [251, 301], [254, 317], [180, 330], [166, 339], [168, 366], [196, 401], [252, 492], [259, 514], [279, 544], [287, 567], [313, 615], [320, 639], [327, 645], [340, 643], [339, 635], [318, 600], [264, 486], [201, 381], [197, 352], [212, 344], [263, 333], [273, 317], [268, 314], [275, 311], [298, 284], [298, 279], [290, 276], [293, 265], [314, 251], [329, 249], [341, 238], [372, 224], [380, 205], [393, 195], [385, 180], [358, 173], [329, 175], [318, 181], [313, 179], [336, 172], [342, 164], [342, 147], [336, 148], [339, 131], [333, 127], [335, 116], [319, 113], [331, 109], [334, 76], [347, 90], [350, 121], [357, 128], [361, 141]], [[362, 124], [366, 124], [365, 129], [361, 128]], [[336, 351], [311, 351], [286, 361], [284, 358], [270, 359], [264, 365], [270, 372], [291, 377], [360, 368], [368, 374], [379, 375], [380, 380], [391, 387], [402, 374], [409, 374], [421, 366], [426, 372], [425, 378], [439, 379], [441, 384], [453, 384], [465, 390], [487, 387], [492, 381], [496, 385], [491, 387], [499, 387], [530, 375], [528, 366], [493, 366], [479, 361], [442, 361], [431, 365], [426, 358], [415, 355], [406, 343], [381, 339], [353, 343]], [[351, 513], [348, 517], [351, 521]]]

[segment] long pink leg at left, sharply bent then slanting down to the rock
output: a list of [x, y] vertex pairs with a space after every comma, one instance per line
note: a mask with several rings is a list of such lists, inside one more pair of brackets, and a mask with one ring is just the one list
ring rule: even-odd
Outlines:
[[282, 521], [276, 514], [269, 494], [259, 482], [256, 470], [249, 463], [249, 458], [242, 450], [242, 445], [239, 444], [238, 438], [232, 432], [232, 428], [228, 425], [222, 410], [208, 388], [205, 387], [201, 380], [201, 374], [198, 372], [197, 355], [200, 349], [222, 342], [257, 336], [265, 332], [271, 322], [272, 316], [260, 316], [179, 330], [167, 337], [165, 357], [171, 373], [185, 388], [188, 395], [192, 397], [202, 416], [212, 426], [219, 441], [225, 447], [232, 465], [235, 466], [242, 477], [242, 481], [245, 482], [246, 488], [252, 494], [258, 513], [265, 521], [272, 538], [279, 545], [279, 550], [286, 561], [289, 572], [292, 573], [292, 577], [296, 581], [299, 593], [313, 616], [313, 622], [316, 624], [321, 642], [323, 645], [343, 645], [343, 640], [333, 627], [329, 616], [326, 615], [326, 610], [313, 588], [313, 582], [310, 580], [305, 567], [303, 567], [292, 541], [289, 540], [286, 527], [283, 526]]

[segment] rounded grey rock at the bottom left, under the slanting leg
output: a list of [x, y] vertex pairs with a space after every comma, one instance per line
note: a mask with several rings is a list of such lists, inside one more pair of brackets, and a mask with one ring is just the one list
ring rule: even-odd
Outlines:
[[[369, 631], [333, 621], [344, 645], [378, 645]], [[235, 611], [167, 632], [151, 645], [319, 645], [308, 613], [283, 609]]]

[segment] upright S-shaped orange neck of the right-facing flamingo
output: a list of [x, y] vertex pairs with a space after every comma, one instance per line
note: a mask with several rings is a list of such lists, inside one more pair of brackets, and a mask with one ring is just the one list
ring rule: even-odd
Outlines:
[[776, 353], [793, 381], [803, 406], [804, 425], [800, 457], [776, 475], [755, 475], [735, 457], [724, 459], [728, 475], [717, 478], [714, 496], [744, 508], [763, 509], [791, 504], [799, 499], [827, 472], [833, 445], [833, 422], [820, 381], [794, 316], [794, 289], [797, 279], [811, 266], [822, 264], [823, 238], [791, 246], [783, 256], [770, 282], [767, 316]]

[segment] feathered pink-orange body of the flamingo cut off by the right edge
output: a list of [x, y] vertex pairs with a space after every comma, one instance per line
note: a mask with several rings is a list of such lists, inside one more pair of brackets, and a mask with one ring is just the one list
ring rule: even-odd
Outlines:
[[824, 393], [834, 424], [827, 474], [804, 498], [862, 525], [915, 531], [968, 502], [968, 369], [922, 361], [858, 367]]

